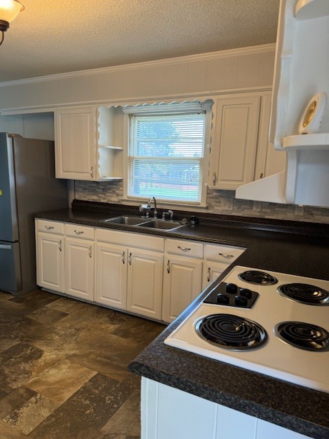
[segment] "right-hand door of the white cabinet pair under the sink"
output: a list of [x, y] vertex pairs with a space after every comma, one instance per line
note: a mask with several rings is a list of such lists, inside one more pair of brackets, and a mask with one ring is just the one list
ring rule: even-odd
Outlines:
[[128, 250], [127, 311], [160, 320], [163, 255]]

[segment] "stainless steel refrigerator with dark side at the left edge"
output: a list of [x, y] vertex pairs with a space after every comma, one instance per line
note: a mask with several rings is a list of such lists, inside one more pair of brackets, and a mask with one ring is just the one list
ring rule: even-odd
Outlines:
[[67, 206], [52, 141], [0, 133], [0, 290], [36, 288], [34, 214]]

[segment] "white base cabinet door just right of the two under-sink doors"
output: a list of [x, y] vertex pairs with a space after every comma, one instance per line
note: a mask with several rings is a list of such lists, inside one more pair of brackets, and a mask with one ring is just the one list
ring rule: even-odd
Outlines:
[[168, 254], [165, 263], [162, 320], [172, 322], [202, 291], [202, 261]]

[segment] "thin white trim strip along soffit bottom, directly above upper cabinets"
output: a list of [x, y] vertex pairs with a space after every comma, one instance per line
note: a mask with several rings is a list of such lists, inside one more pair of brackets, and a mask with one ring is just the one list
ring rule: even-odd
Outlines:
[[[182, 94], [173, 94], [173, 95], [153, 95], [145, 98], [145, 96], [138, 97], [121, 97], [115, 99], [99, 99], [97, 101], [80, 101], [80, 102], [72, 102], [70, 104], [56, 104], [56, 106], [51, 105], [40, 105], [40, 106], [26, 106], [26, 107], [12, 107], [12, 108], [0, 108], [1, 116], [16, 116], [16, 115], [24, 115], [29, 112], [51, 112], [55, 111], [56, 108], [64, 108], [64, 107], [76, 107], [82, 105], [99, 105], [99, 106], [125, 106], [125, 105], [136, 105], [141, 104], [141, 102], [145, 103], [157, 103], [157, 102], [167, 102], [171, 99], [206, 99], [212, 98], [213, 96], [221, 96], [221, 95], [232, 95], [237, 93], [263, 93], [265, 91], [271, 91], [271, 84], [267, 86], [254, 86], [254, 87], [243, 87], [243, 88], [230, 88], [225, 90], [212, 90], [212, 91], [204, 91], [204, 92], [193, 92], [193, 93], [184, 93]], [[201, 97], [200, 97], [201, 96]]]

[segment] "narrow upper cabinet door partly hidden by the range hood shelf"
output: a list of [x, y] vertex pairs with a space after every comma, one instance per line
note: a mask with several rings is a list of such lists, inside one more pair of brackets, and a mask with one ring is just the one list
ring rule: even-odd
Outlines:
[[287, 153], [274, 149], [269, 143], [269, 119], [271, 113], [271, 93], [262, 96], [260, 126], [254, 180], [284, 171]]

